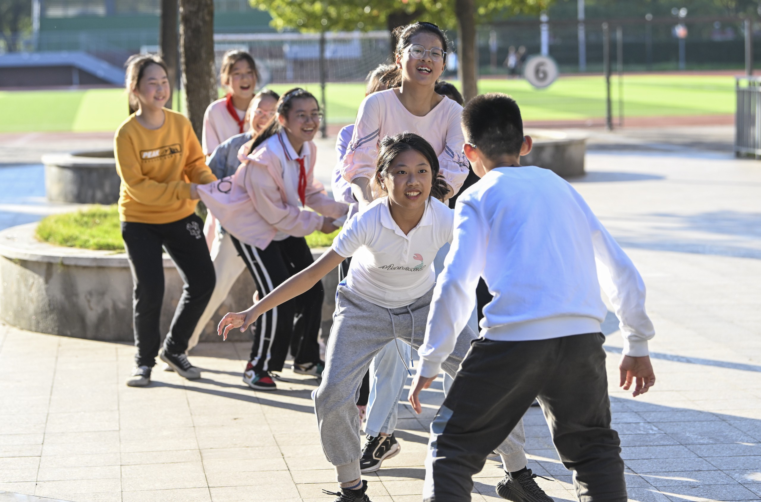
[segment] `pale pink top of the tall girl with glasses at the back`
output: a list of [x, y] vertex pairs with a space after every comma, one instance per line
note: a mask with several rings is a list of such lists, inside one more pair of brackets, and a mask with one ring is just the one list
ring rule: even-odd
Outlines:
[[444, 96], [428, 115], [419, 117], [404, 107], [393, 89], [372, 93], [359, 106], [352, 141], [343, 158], [343, 178], [348, 182], [358, 176], [372, 179], [380, 139], [409, 131], [428, 140], [438, 155], [439, 174], [457, 194], [468, 175], [468, 161], [462, 153], [462, 113], [462, 106]]

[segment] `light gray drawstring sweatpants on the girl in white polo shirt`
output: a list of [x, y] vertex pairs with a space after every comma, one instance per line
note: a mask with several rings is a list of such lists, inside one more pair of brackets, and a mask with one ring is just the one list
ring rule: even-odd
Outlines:
[[[336, 311], [326, 352], [323, 380], [314, 398], [320, 442], [330, 463], [336, 466], [339, 482], [360, 477], [362, 456], [357, 397], [370, 362], [380, 349], [396, 337], [417, 349], [425, 336], [425, 323], [433, 288], [416, 302], [401, 308], [383, 308], [361, 298], [346, 286], [336, 289]], [[413, 329], [414, 326], [414, 329]], [[469, 327], [457, 337], [454, 351], [441, 368], [452, 377], [470, 349], [476, 333]], [[496, 448], [506, 466], [526, 466], [523, 421]]]

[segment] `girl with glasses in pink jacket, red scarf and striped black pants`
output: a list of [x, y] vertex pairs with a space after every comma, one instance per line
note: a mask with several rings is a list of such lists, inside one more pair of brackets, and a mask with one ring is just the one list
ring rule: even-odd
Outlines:
[[[289, 90], [266, 128], [240, 148], [242, 164], [234, 175], [199, 186], [201, 200], [229, 232], [260, 297], [309, 267], [313, 260], [304, 236], [333, 232], [333, 220], [348, 210], [314, 179], [317, 147], [312, 139], [321, 120], [312, 94]], [[275, 390], [271, 373], [282, 371], [289, 346], [296, 373], [322, 374], [317, 332], [323, 294], [318, 282], [256, 321], [243, 377], [249, 387]]]

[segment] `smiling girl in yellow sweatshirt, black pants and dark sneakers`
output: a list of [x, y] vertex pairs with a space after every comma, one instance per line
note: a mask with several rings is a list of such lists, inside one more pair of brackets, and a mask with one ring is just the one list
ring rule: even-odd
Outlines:
[[171, 95], [167, 68], [160, 58], [129, 59], [126, 87], [132, 109], [114, 137], [116, 171], [122, 178], [119, 219], [132, 270], [135, 369], [131, 387], [151, 382], [159, 355], [159, 319], [164, 298], [164, 249], [185, 286], [161, 359], [186, 378], [199, 378], [185, 351], [200, 314], [209, 302], [215, 274], [203, 238], [203, 221], [194, 213], [199, 184], [216, 180], [204, 163], [201, 145], [187, 118], [165, 109]]

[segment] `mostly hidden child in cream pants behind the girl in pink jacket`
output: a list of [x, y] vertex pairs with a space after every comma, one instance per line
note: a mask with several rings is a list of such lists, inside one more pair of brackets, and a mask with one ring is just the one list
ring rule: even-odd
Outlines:
[[[240, 166], [238, 150], [244, 144], [250, 142], [255, 134], [263, 131], [269, 121], [272, 120], [272, 116], [275, 115], [275, 106], [277, 106], [278, 99], [280, 99], [278, 93], [269, 89], [260, 90], [256, 93], [256, 96], [253, 96], [247, 111], [250, 129], [243, 134], [235, 134], [228, 140], [224, 140], [214, 149], [212, 155], [209, 156], [209, 169], [212, 169], [212, 172], [218, 179], [235, 174], [238, 166]], [[206, 219], [212, 218], [214, 216], [208, 213]], [[228, 297], [228, 293], [240, 276], [240, 273], [246, 270], [246, 263], [238, 257], [237, 249], [235, 249], [230, 236], [224, 232], [221, 225], [218, 225], [215, 221], [214, 226], [205, 226], [204, 232], [211, 232], [211, 235], [206, 235], [207, 242], [209, 237], [213, 239], [209, 246], [209, 251], [212, 255], [212, 263], [214, 264], [214, 271], [217, 276], [217, 285], [214, 287], [212, 298], [209, 298], [209, 303], [206, 305], [203, 314], [201, 314], [198, 324], [196, 324], [193, 336], [189, 339], [188, 350], [193, 349], [198, 344], [206, 324], [219, 308], [219, 305]]]

